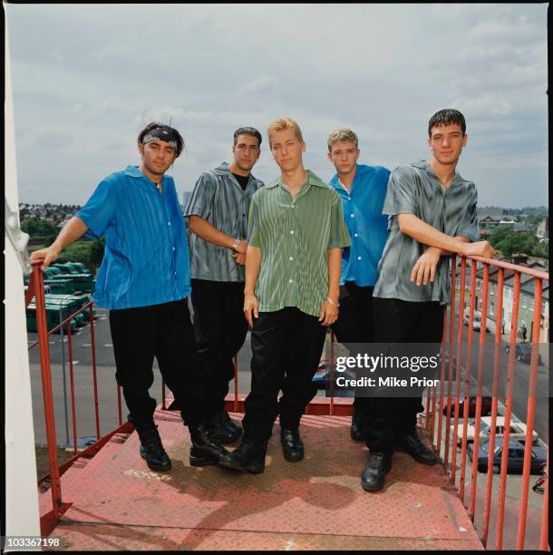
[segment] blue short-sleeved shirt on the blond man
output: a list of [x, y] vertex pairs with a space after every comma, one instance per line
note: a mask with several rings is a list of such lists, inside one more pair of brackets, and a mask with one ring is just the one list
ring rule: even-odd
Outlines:
[[354, 182], [349, 191], [336, 174], [330, 184], [340, 195], [344, 220], [352, 244], [342, 252], [340, 285], [354, 281], [359, 287], [374, 286], [378, 262], [388, 234], [388, 218], [383, 204], [390, 170], [382, 166], [357, 164]]

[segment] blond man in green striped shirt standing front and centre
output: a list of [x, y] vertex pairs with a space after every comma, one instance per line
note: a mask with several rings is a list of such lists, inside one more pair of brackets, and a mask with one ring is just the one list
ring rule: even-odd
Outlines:
[[281, 175], [257, 190], [249, 210], [244, 313], [252, 326], [251, 393], [242, 443], [221, 461], [244, 472], [264, 471], [277, 415], [286, 460], [304, 457], [299, 423], [316, 394], [326, 327], [338, 316], [342, 248], [350, 245], [338, 194], [304, 168], [297, 123], [278, 119], [267, 134]]

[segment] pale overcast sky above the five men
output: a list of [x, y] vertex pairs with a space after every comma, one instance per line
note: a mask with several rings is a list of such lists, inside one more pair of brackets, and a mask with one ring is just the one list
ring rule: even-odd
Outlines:
[[433, 112], [457, 108], [458, 166], [480, 205], [548, 203], [547, 8], [537, 5], [5, 5], [19, 200], [83, 204], [139, 164], [136, 136], [169, 122], [187, 151], [179, 198], [231, 160], [232, 133], [263, 134], [254, 174], [278, 171], [267, 124], [291, 117], [306, 168], [329, 180], [326, 138], [360, 161], [427, 158]]

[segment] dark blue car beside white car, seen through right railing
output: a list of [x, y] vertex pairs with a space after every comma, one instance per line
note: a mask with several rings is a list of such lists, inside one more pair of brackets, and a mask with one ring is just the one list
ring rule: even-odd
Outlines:
[[[490, 442], [482, 442], [479, 445], [478, 453], [478, 470], [480, 472], [488, 472], [488, 453]], [[530, 473], [540, 474], [545, 472], [547, 463], [547, 451], [535, 445], [529, 446], [532, 450], [530, 458]], [[470, 443], [467, 452], [472, 461], [474, 456], [474, 444]], [[498, 437], [495, 440], [495, 450], [493, 452], [493, 473], [499, 474], [501, 469], [501, 453], [503, 452], [503, 438]], [[524, 465], [524, 443], [517, 441], [509, 442], [509, 457], [507, 459], [507, 472], [522, 472]]]

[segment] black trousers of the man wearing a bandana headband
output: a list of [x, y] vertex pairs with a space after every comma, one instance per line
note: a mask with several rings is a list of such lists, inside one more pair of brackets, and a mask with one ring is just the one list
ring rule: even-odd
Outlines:
[[152, 421], [156, 400], [150, 397], [154, 356], [166, 385], [179, 404], [184, 424], [208, 420], [199, 359], [187, 299], [110, 311], [115, 379], [121, 385], [135, 424]]

